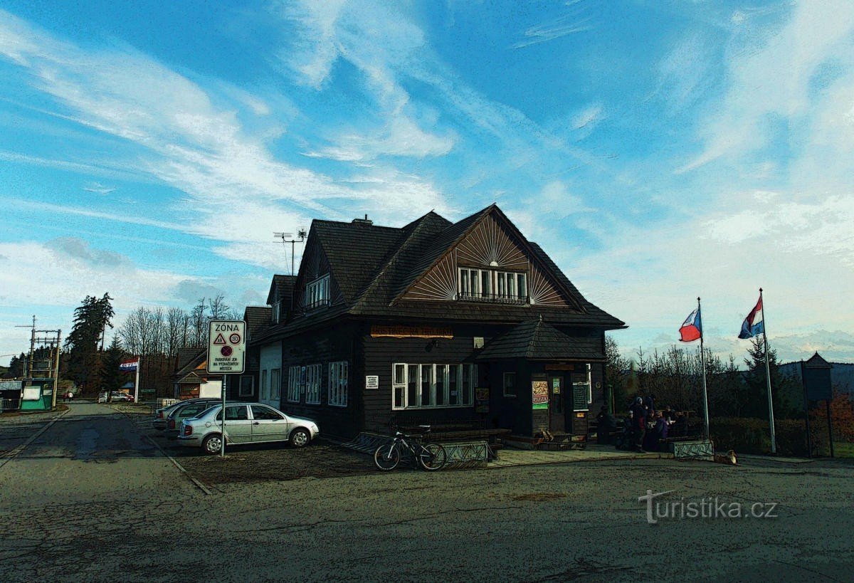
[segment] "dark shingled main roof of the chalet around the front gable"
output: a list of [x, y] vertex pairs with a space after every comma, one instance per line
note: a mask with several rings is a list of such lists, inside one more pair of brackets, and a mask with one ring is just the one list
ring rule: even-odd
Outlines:
[[[500, 215], [501, 220], [512, 227], [512, 231], [522, 239], [520, 244], [529, 250], [532, 260], [551, 275], [563, 293], [572, 298], [572, 303], [578, 303], [580, 309], [543, 304], [419, 301], [400, 297], [490, 213]], [[315, 220], [312, 231], [329, 262], [331, 277], [342, 291], [343, 303], [333, 303], [329, 309], [315, 311], [311, 315], [294, 315], [283, 324], [267, 327], [255, 336], [253, 344], [324, 326], [342, 315], [444, 324], [448, 321], [518, 323], [539, 316], [556, 325], [605, 329], [625, 327], [623, 321], [588, 302], [545, 251], [524, 239], [494, 204], [456, 223], [430, 211], [401, 228], [377, 227], [364, 222]]]

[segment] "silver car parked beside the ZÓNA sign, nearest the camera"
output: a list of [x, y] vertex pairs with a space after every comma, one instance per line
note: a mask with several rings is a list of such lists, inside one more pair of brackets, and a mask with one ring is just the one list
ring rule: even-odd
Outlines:
[[[269, 405], [225, 403], [225, 440], [229, 445], [288, 441], [294, 447], [305, 447], [319, 434], [314, 421], [285, 415]], [[222, 445], [222, 405], [181, 421], [178, 444], [217, 453]]]

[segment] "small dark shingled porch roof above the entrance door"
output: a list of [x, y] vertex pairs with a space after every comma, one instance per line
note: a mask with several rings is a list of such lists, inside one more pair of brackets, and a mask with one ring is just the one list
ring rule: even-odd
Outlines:
[[604, 361], [598, 338], [572, 339], [542, 320], [524, 321], [496, 336], [483, 347], [477, 360], [504, 358], [527, 360]]

